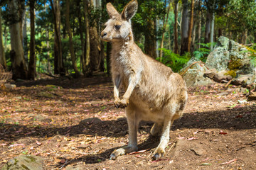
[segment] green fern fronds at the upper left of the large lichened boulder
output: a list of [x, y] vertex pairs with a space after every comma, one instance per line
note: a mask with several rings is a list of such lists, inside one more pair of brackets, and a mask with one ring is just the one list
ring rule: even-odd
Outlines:
[[193, 56], [201, 60], [202, 62], [206, 62], [207, 56], [210, 54], [210, 45], [215, 46], [216, 42], [208, 42], [208, 43], [198, 43], [198, 45], [201, 45], [201, 48], [198, 48], [196, 51], [193, 52]]

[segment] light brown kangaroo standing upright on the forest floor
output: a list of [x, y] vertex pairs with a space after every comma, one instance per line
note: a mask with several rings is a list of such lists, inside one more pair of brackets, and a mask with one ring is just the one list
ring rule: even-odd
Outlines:
[[[102, 30], [102, 40], [112, 42], [111, 72], [114, 84], [114, 105], [125, 108], [129, 129], [127, 146], [114, 150], [110, 159], [137, 151], [137, 132], [141, 120], [153, 121], [151, 135], [161, 135], [152, 159], [164, 157], [171, 124], [181, 117], [188, 94], [179, 74], [161, 62], [145, 55], [134, 42], [131, 18], [137, 12], [136, 0], [129, 1], [121, 14], [107, 4], [110, 20]], [[125, 93], [119, 98], [119, 88]]]

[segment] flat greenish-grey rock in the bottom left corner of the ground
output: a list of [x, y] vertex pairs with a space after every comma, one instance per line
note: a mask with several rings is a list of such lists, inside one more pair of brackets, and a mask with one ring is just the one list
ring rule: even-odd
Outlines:
[[43, 170], [43, 158], [33, 155], [20, 155], [7, 162], [1, 170]]

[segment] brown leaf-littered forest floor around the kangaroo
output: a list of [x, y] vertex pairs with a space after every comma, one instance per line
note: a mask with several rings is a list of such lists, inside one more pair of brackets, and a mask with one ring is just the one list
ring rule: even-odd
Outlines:
[[[46, 169], [256, 169], [256, 103], [240, 86], [188, 89], [183, 117], [171, 128], [166, 156], [152, 161], [159, 137], [139, 128], [139, 152], [109, 160], [127, 145], [127, 120], [114, 108], [107, 77], [15, 82], [0, 94], [0, 167], [20, 154]], [[241, 91], [242, 89], [242, 91]]]

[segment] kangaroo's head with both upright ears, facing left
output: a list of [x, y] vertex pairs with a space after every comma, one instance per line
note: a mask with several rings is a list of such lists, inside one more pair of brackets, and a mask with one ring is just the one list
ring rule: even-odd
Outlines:
[[129, 1], [122, 13], [119, 14], [111, 3], [107, 3], [107, 13], [110, 16], [110, 19], [105, 23], [106, 28], [102, 30], [102, 40], [131, 40], [132, 25], [130, 19], [136, 13], [137, 8], [137, 0], [132, 0]]

